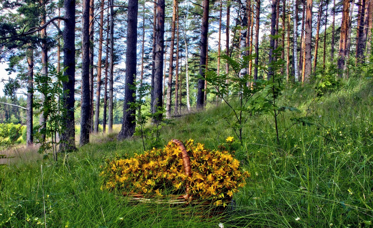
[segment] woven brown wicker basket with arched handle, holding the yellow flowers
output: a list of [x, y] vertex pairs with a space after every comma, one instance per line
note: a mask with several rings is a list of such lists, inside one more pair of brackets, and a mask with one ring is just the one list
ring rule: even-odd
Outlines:
[[[186, 152], [184, 144], [178, 139], [171, 140], [179, 149], [181, 150], [181, 156], [183, 160], [185, 175], [191, 177], [191, 161], [188, 153]], [[169, 204], [170, 206], [188, 206], [191, 205], [201, 211], [201, 216], [211, 217], [214, 215], [219, 215], [223, 213], [227, 206], [223, 205], [213, 205], [211, 200], [203, 200], [195, 195], [190, 194], [190, 188], [187, 184], [185, 186], [185, 192], [181, 195], [166, 195], [165, 197], [159, 197], [157, 195], [143, 195], [136, 192], [122, 192], [123, 196], [129, 200], [131, 203], [159, 203], [159, 204]], [[222, 199], [225, 204], [229, 204], [232, 197]], [[207, 213], [206, 213], [207, 212]], [[198, 214], [198, 213], [197, 213]]]

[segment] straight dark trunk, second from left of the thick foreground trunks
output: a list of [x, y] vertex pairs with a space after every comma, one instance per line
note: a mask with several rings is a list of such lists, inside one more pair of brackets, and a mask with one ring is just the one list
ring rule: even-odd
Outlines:
[[90, 142], [90, 0], [83, 0], [82, 16], [82, 98], [79, 144]]

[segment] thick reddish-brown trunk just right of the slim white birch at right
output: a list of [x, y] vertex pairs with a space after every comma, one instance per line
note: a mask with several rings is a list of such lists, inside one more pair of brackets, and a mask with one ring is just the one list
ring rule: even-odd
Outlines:
[[304, 67], [304, 81], [308, 83], [311, 77], [312, 70], [312, 0], [307, 0], [306, 17], [305, 17], [305, 67]]

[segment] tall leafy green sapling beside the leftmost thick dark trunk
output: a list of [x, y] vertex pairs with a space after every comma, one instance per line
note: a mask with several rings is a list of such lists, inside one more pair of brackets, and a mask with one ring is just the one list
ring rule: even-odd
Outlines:
[[35, 89], [45, 96], [43, 101], [34, 102], [34, 107], [39, 110], [36, 114], [43, 113], [47, 122], [46, 128], [42, 128], [41, 125], [35, 126], [40, 129], [35, 133], [35, 138], [41, 143], [39, 152], [48, 154], [47, 151], [52, 149], [55, 161], [57, 161], [57, 145], [59, 144], [56, 135], [57, 132], [61, 133], [64, 130], [62, 123], [67, 111], [59, 99], [63, 95], [62, 82], [68, 81], [68, 76], [64, 76], [63, 71], [57, 72], [56, 68], [50, 65], [47, 75], [37, 73], [34, 77]]

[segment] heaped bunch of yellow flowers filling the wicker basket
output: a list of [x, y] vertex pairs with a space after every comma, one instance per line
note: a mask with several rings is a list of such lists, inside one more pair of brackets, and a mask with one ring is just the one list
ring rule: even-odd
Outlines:
[[186, 176], [180, 148], [170, 141], [163, 149], [153, 148], [133, 158], [107, 160], [100, 175], [101, 189], [117, 189], [144, 195], [182, 194], [189, 185], [194, 197], [222, 204], [239, 187], [244, 187], [245, 177], [239, 161], [225, 150], [205, 149], [192, 139], [184, 142], [191, 160], [191, 177]]

